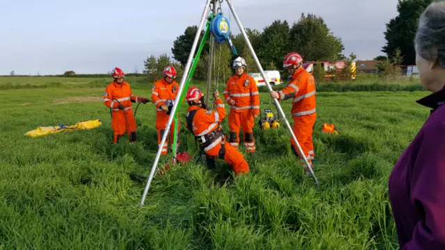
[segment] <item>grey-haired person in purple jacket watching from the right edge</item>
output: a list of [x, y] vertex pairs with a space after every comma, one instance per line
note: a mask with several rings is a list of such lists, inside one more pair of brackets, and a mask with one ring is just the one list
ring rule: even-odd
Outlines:
[[389, 176], [400, 249], [445, 249], [445, 1], [419, 18], [414, 40], [419, 78], [432, 92], [417, 100], [430, 116]]

